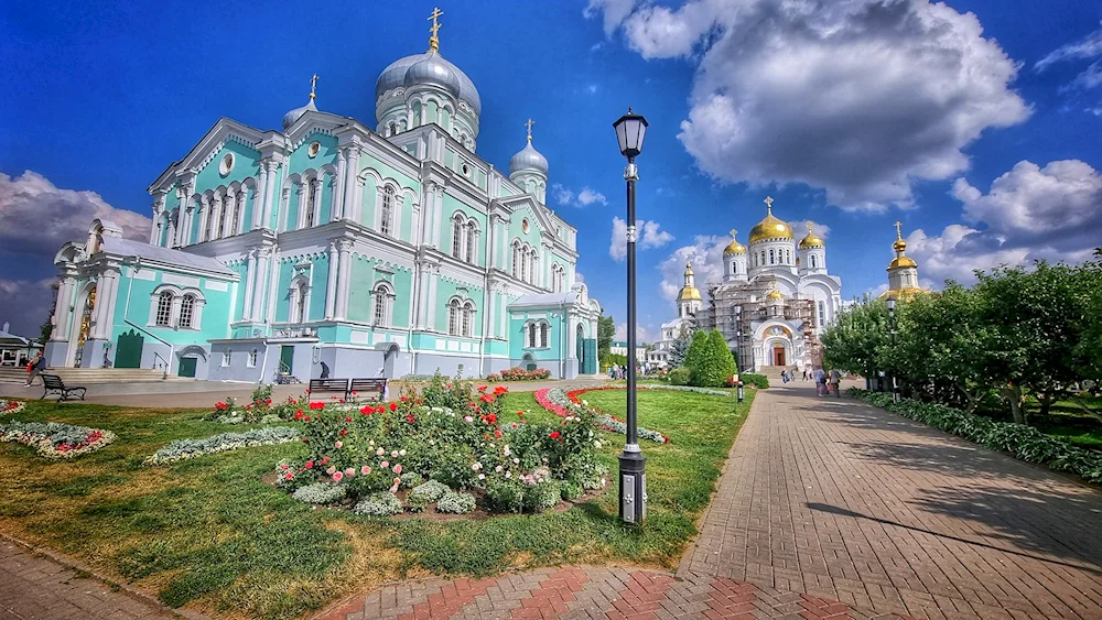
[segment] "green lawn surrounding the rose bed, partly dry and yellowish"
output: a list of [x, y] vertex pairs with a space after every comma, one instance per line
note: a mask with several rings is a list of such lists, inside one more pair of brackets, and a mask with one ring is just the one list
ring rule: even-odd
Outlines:
[[[625, 392], [586, 398], [624, 415]], [[508, 399], [509, 411], [553, 417], [531, 393]], [[119, 439], [71, 463], [0, 444], [0, 530], [155, 591], [166, 605], [250, 618], [296, 618], [383, 580], [425, 573], [486, 575], [576, 562], [672, 568], [695, 534], [750, 400], [735, 409], [720, 396], [639, 394], [640, 425], [672, 440], [644, 445], [650, 504], [640, 529], [625, 527], [616, 513], [619, 435], [603, 434], [612, 443], [601, 454], [612, 470], [611, 492], [570, 510], [387, 521], [312, 510], [260, 482], [281, 458], [301, 457], [298, 444], [141, 466], [172, 439], [229, 429], [203, 421], [202, 411], [32, 402], [17, 418], [106, 428]], [[515, 413], [506, 421], [514, 420]]]

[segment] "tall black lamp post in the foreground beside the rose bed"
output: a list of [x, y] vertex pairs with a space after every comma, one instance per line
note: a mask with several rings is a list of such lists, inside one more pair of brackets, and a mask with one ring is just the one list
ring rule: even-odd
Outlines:
[[624, 181], [627, 182], [627, 442], [619, 456], [619, 513], [625, 523], [639, 524], [647, 516], [647, 459], [639, 449], [636, 422], [636, 308], [635, 308], [635, 182], [639, 180], [635, 157], [642, 152], [647, 119], [631, 112], [613, 123], [620, 154], [627, 157]]

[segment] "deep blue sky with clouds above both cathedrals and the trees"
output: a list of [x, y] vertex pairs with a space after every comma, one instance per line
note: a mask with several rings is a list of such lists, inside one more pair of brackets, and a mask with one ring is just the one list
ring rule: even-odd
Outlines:
[[[828, 233], [844, 297], [883, 286], [896, 219], [930, 285], [1102, 242], [1102, 6], [439, 3], [441, 52], [482, 94], [478, 154], [507, 166], [536, 120], [549, 206], [579, 228], [579, 270], [617, 323], [611, 123], [647, 116], [645, 337], [673, 315], [684, 260], [714, 273], [767, 194]], [[374, 126], [375, 80], [425, 48], [434, 4], [6, 3], [0, 322], [33, 333], [60, 242], [105, 209], [148, 215], [145, 187], [219, 117], [277, 128], [317, 73], [322, 110]]]

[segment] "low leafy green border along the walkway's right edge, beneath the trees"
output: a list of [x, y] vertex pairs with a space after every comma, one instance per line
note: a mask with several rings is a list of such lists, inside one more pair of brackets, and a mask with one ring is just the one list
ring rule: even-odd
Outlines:
[[1015, 458], [1047, 465], [1058, 471], [1070, 471], [1088, 482], [1102, 482], [1102, 454], [1073, 446], [1031, 426], [997, 422], [941, 404], [908, 399], [894, 403], [892, 394], [883, 392], [851, 388], [850, 395], [986, 448], [1011, 453]]

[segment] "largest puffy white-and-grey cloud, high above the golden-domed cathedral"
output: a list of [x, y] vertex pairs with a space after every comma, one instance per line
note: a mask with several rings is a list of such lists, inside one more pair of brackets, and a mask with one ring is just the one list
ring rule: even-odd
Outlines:
[[591, 0], [647, 58], [699, 62], [679, 138], [722, 182], [807, 183], [845, 209], [912, 206], [918, 181], [1029, 116], [975, 15], [927, 0]]

